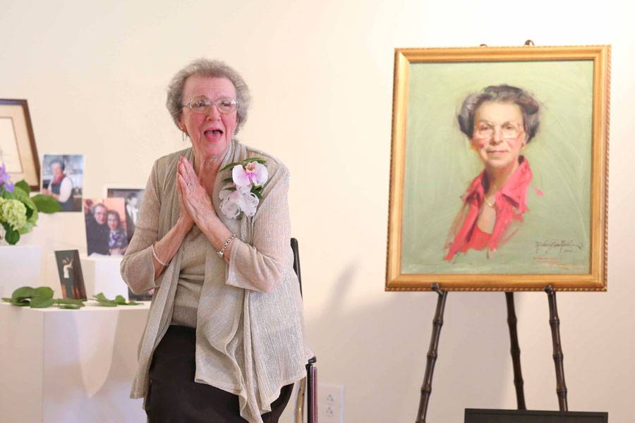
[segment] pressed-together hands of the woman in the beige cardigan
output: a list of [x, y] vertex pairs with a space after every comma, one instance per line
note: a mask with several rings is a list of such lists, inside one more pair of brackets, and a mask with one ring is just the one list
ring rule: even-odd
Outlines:
[[176, 165], [176, 179], [179, 183], [179, 201], [181, 203], [181, 217], [188, 231], [196, 224], [199, 228], [205, 219], [217, 218], [208, 191], [212, 191], [216, 172], [206, 172], [201, 166], [197, 176], [192, 164], [185, 158], [179, 159]]

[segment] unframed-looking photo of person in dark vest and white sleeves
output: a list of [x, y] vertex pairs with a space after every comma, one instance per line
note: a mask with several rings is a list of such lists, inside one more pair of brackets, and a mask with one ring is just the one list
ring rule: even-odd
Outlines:
[[40, 192], [53, 197], [61, 212], [81, 212], [84, 157], [81, 154], [44, 154]]

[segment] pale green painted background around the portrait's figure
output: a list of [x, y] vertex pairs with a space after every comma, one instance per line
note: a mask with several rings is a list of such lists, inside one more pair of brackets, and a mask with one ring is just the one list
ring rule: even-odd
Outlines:
[[[532, 185], [544, 196], [530, 196], [521, 230], [495, 254], [471, 251], [450, 263], [443, 260], [449, 228], [461, 195], [483, 170], [456, 114], [471, 92], [503, 83], [527, 90], [541, 104], [540, 128], [523, 154]], [[411, 63], [408, 91], [401, 272], [587, 273], [593, 61]], [[557, 248], [536, 250], [536, 241], [561, 239], [580, 248], [560, 255]], [[561, 265], [540, 262], [545, 255]]]

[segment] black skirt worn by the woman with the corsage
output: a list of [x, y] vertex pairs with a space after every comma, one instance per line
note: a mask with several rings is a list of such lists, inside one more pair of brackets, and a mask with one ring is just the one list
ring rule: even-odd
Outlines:
[[[245, 423], [238, 396], [194, 381], [196, 332], [186, 326], [169, 326], [152, 355], [150, 388], [145, 412], [150, 423]], [[277, 423], [289, 403], [293, 384], [284, 386], [262, 415], [265, 423]]]

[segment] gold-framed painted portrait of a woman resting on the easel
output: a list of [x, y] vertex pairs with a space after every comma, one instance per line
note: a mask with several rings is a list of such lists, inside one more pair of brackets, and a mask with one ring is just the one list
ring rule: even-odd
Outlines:
[[610, 46], [394, 58], [386, 290], [606, 290]]

